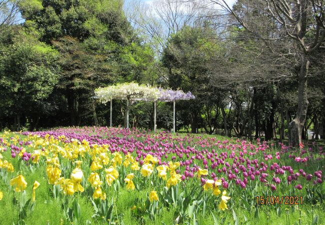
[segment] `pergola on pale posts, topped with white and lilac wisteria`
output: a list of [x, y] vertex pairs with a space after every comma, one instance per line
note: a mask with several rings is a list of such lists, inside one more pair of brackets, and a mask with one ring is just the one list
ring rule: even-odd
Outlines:
[[173, 101], [173, 132], [175, 132], [175, 101], [194, 99], [195, 96], [191, 92], [184, 93], [182, 90], [171, 90], [156, 88], [148, 85], [130, 83], [117, 83], [107, 87], [99, 87], [95, 89], [95, 98], [99, 99], [102, 103], [110, 101], [110, 118], [109, 126], [111, 127], [112, 121], [112, 99], [126, 100], [125, 120], [126, 127], [128, 128], [128, 110], [130, 101], [153, 101], [153, 127], [156, 130], [156, 102], [160, 101]]

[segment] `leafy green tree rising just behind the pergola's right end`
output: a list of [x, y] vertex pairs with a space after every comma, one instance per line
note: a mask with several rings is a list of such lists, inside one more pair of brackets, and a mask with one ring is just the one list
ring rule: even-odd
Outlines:
[[[217, 88], [211, 85], [211, 71], [207, 65], [215, 60], [218, 53], [222, 54], [222, 49], [210, 38], [213, 35], [208, 26], [184, 26], [168, 40], [162, 56], [162, 63], [169, 71], [169, 85], [174, 89], [191, 91], [196, 96], [194, 102], [185, 106], [190, 109], [192, 132], [196, 132], [202, 105], [207, 110], [204, 118], [208, 124], [205, 128], [209, 133], [216, 128], [214, 105], [220, 99]], [[212, 114], [213, 119], [210, 118]]]

